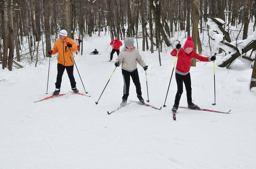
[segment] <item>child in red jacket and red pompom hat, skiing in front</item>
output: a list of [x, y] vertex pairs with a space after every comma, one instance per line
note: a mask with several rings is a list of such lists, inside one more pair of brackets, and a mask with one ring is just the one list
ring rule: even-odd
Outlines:
[[176, 112], [180, 103], [181, 94], [183, 92], [183, 82], [186, 87], [187, 91], [187, 102], [188, 107], [190, 108], [197, 108], [198, 106], [192, 102], [192, 89], [191, 89], [191, 78], [189, 70], [191, 68], [191, 60], [196, 58], [203, 62], [210, 62], [216, 59], [216, 56], [211, 56], [211, 58], [207, 58], [204, 56], [200, 56], [194, 50], [194, 42], [192, 38], [188, 36], [187, 41], [185, 42], [184, 46], [181, 48], [181, 44], [178, 43], [176, 45], [176, 49], [171, 52], [172, 56], [176, 56], [178, 52], [178, 60], [177, 66], [175, 70], [175, 78], [177, 83], [177, 93], [175, 96], [174, 105], [172, 108], [173, 112]]

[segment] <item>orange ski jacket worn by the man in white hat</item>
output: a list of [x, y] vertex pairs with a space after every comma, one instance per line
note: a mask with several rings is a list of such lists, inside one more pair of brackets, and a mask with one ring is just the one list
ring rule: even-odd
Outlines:
[[58, 63], [62, 64], [63, 66], [73, 66], [74, 59], [70, 53], [69, 48], [67, 47], [67, 42], [72, 44], [70, 48], [72, 55], [74, 56], [73, 52], [77, 52], [78, 48], [73, 39], [65, 38], [64, 40], [58, 39], [53, 46], [52, 55], [58, 53]]

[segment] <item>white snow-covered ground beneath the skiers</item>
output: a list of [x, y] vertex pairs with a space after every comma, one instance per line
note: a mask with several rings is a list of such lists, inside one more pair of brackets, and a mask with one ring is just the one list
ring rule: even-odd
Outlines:
[[[48, 95], [48, 60], [36, 68], [33, 64], [12, 72], [0, 70], [1, 169], [256, 168], [256, 92], [249, 90], [249, 63], [238, 59], [229, 70], [215, 67], [215, 106], [211, 105], [213, 62], [197, 62], [191, 68], [193, 101], [205, 109], [231, 109], [230, 114], [178, 109], [173, 121], [170, 110], [177, 90], [173, 76], [167, 107], [162, 110], [131, 103], [107, 115], [120, 105], [123, 95], [118, 67], [95, 105], [115, 67], [113, 62], [103, 62], [108, 59], [109, 43], [109, 36], [93, 36], [84, 41], [84, 54], [75, 55], [90, 98], [68, 93], [71, 86], [64, 72], [61, 93], [68, 94], [33, 102], [54, 91], [56, 56], [50, 62]], [[101, 55], [86, 54], [95, 48]], [[159, 66], [158, 52], [142, 52], [141, 46], [139, 50], [148, 65], [149, 104], [163, 106], [175, 57], [168, 49], [161, 53]], [[139, 65], [138, 71], [146, 100], [145, 71]], [[77, 88], [85, 93], [76, 69], [74, 76]], [[132, 82], [128, 100], [138, 100]], [[185, 90], [180, 106], [187, 106]]]

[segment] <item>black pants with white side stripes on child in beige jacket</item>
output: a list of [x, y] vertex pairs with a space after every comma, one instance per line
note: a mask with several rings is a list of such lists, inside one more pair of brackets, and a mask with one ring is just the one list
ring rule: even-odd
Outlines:
[[122, 74], [123, 74], [123, 78], [124, 78], [124, 95], [123, 95], [123, 98], [127, 99], [128, 96], [129, 96], [130, 76], [132, 77], [132, 81], [135, 84], [137, 95], [142, 95], [138, 69], [136, 69], [133, 72], [128, 72], [128, 71], [122, 69]]

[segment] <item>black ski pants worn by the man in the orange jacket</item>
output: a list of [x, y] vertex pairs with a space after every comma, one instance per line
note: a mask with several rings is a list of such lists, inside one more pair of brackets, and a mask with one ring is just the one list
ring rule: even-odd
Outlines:
[[58, 63], [57, 64], [58, 74], [57, 74], [57, 80], [56, 80], [56, 83], [55, 83], [56, 89], [60, 89], [60, 86], [61, 86], [60, 84], [61, 84], [61, 81], [62, 81], [62, 75], [63, 75], [63, 72], [64, 72], [65, 69], [67, 70], [67, 73], [68, 73], [68, 78], [69, 78], [69, 81], [70, 81], [70, 84], [71, 84], [71, 88], [76, 87], [76, 81], [75, 81], [75, 78], [74, 78], [74, 75], [73, 75], [74, 65], [73, 66], [63, 66], [62, 64]]

